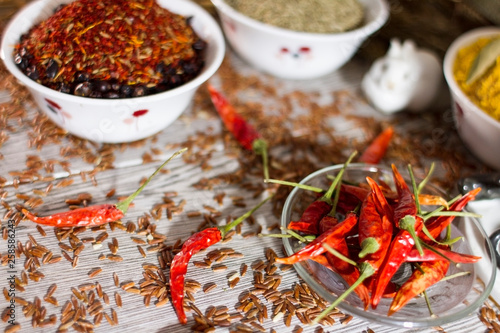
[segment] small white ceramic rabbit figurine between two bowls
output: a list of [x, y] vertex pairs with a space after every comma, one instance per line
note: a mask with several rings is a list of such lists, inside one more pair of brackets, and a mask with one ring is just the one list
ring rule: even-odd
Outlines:
[[385, 113], [422, 111], [435, 101], [442, 85], [437, 55], [418, 49], [412, 40], [391, 40], [387, 54], [377, 59], [361, 82], [371, 104]]

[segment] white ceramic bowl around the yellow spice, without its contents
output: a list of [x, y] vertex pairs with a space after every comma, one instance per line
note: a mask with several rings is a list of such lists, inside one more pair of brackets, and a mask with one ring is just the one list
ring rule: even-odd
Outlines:
[[500, 170], [500, 122], [474, 104], [453, 77], [457, 52], [480, 37], [492, 35], [500, 35], [500, 28], [478, 28], [458, 37], [446, 51], [443, 71], [451, 93], [458, 134], [474, 155], [492, 168]]

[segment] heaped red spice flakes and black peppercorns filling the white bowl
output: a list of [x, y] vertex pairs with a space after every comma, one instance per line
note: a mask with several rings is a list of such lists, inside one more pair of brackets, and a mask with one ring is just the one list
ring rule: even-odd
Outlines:
[[128, 98], [196, 77], [206, 45], [189, 18], [155, 0], [77, 0], [32, 27], [13, 56], [29, 78], [51, 89]]

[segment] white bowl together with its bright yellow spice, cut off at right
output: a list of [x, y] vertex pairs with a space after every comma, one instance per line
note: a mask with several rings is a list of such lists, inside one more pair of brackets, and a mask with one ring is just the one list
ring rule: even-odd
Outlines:
[[464, 33], [448, 48], [443, 70], [462, 141], [485, 164], [500, 170], [500, 54], [476, 80], [468, 80], [477, 55], [498, 38], [499, 27]]

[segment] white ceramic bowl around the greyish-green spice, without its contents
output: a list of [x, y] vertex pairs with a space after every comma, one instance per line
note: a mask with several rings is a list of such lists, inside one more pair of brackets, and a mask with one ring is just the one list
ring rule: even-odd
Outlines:
[[[245, 16], [224, 0], [212, 0], [232, 48], [252, 66], [286, 79], [312, 79], [340, 68], [389, 17], [385, 0], [360, 0], [364, 24], [343, 33], [297, 32]], [[283, 50], [288, 52], [283, 52]]]

